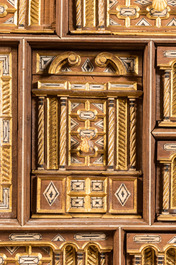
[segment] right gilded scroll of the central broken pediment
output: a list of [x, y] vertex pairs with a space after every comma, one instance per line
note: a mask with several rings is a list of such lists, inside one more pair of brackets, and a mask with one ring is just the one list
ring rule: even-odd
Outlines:
[[123, 65], [122, 61], [109, 52], [102, 52], [98, 54], [95, 58], [95, 63], [99, 67], [106, 67], [108, 64], [111, 64], [116, 71], [117, 75], [126, 75], [126, 68]]

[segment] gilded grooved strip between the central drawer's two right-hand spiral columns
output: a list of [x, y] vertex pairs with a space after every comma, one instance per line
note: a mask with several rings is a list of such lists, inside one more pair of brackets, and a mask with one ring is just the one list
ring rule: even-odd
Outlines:
[[117, 168], [127, 169], [127, 100], [117, 100]]

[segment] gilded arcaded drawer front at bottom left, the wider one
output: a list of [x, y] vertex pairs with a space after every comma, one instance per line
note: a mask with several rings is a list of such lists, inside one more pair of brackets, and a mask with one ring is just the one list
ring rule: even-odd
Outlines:
[[[112, 264], [112, 232], [4, 232], [1, 264]], [[3, 244], [2, 244], [3, 243]]]

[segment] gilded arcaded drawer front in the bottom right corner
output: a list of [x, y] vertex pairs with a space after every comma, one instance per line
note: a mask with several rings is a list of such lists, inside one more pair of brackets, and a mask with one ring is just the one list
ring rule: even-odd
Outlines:
[[128, 264], [175, 264], [174, 233], [128, 233]]

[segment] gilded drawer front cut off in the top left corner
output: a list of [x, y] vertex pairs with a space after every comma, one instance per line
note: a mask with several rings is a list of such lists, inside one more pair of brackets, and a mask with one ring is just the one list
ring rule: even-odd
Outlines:
[[44, 0], [2, 0], [0, 2], [0, 32], [53, 33], [55, 17], [53, 0], [47, 2]]

